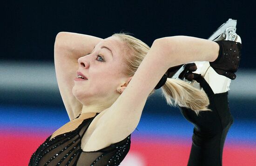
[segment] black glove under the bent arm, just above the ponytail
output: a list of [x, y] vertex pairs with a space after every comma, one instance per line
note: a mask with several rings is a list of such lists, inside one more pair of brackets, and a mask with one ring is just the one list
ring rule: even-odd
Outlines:
[[[166, 72], [167, 77], [171, 78], [175, 75], [175, 73], [183, 66], [184, 64], [178, 65], [178, 66], [173, 66], [169, 68]], [[190, 64], [185, 64], [185, 69], [181, 72], [179, 75], [180, 79], [186, 78], [189, 81], [192, 81], [194, 78], [194, 73], [193, 71], [197, 70], [197, 67], [195, 63], [190, 63]]]

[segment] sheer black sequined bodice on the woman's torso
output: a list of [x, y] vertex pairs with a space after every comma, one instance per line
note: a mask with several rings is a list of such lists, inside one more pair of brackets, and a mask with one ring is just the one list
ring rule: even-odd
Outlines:
[[[98, 113], [95, 115], [97, 116]], [[88, 118], [73, 131], [51, 135], [32, 154], [29, 166], [118, 166], [130, 149], [130, 136], [97, 151], [84, 152], [81, 138], [95, 118]]]

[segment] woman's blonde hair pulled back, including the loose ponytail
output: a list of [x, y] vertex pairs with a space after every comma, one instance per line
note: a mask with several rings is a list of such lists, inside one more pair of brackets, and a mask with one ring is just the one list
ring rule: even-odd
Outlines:
[[[134, 76], [150, 47], [128, 33], [115, 33], [112, 36], [118, 37], [126, 43], [127, 47], [124, 57], [127, 66], [125, 74], [128, 77]], [[165, 97], [168, 105], [186, 107], [194, 110], [196, 114], [199, 111], [210, 110], [207, 108], [209, 106], [209, 99], [206, 93], [196, 89], [185, 81], [168, 78], [161, 89], [162, 96]], [[150, 92], [149, 96], [153, 93], [155, 93], [155, 89]]]

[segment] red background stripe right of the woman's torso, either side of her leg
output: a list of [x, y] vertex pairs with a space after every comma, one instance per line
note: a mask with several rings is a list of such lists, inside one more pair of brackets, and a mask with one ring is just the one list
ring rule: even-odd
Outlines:
[[[187, 166], [191, 146], [173, 141], [151, 143], [133, 141], [130, 152], [140, 153], [146, 166]], [[227, 145], [223, 150], [223, 166], [256, 166], [256, 148]]]

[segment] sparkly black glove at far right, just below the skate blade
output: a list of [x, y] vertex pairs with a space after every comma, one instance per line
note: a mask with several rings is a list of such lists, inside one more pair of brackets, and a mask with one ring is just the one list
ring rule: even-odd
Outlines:
[[214, 62], [209, 62], [210, 66], [219, 75], [236, 79], [235, 72], [240, 63], [242, 44], [230, 40], [220, 40], [216, 43], [220, 46], [219, 55]]

